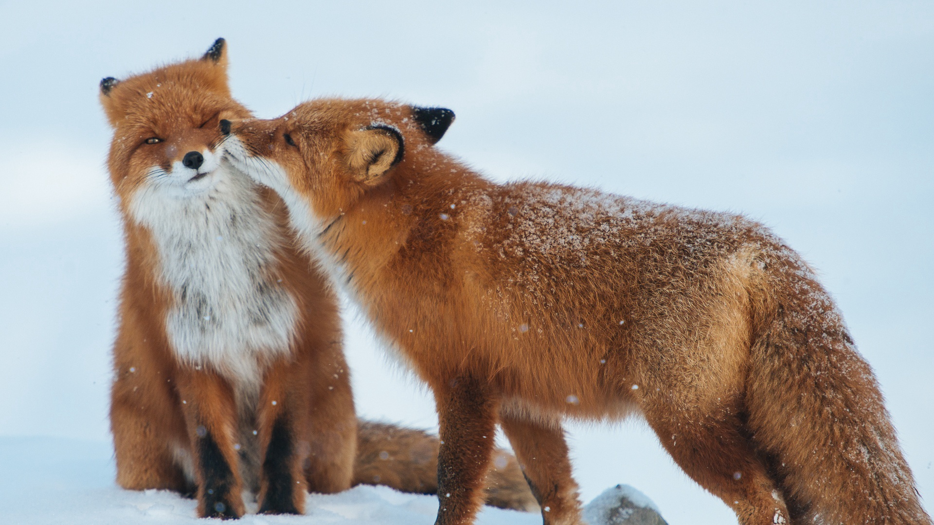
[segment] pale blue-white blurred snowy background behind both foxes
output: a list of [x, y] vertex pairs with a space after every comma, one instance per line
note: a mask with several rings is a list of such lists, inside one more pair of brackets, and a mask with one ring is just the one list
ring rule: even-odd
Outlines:
[[[569, 6], [0, 1], [0, 448], [64, 440], [0, 458], [0, 523], [67, 513], [54, 494], [90, 513], [129, 504], [106, 470], [121, 246], [97, 83], [218, 36], [234, 94], [262, 117], [324, 94], [447, 106], [458, 120], [439, 146], [490, 177], [763, 220], [841, 305], [931, 509], [934, 4]], [[434, 428], [430, 397], [352, 312], [347, 354], [361, 415]], [[569, 431], [585, 501], [623, 482], [672, 525], [735, 523], [644, 425]]]

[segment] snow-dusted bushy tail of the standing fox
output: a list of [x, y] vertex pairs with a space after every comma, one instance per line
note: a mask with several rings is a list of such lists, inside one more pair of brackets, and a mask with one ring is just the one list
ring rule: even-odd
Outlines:
[[828, 294], [803, 262], [775, 265], [747, 407], [792, 522], [929, 525], [875, 376]]

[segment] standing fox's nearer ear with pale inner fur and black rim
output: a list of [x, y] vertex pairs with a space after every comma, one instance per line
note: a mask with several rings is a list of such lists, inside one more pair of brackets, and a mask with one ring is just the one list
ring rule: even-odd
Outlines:
[[403, 160], [405, 142], [396, 128], [375, 124], [352, 132], [347, 141], [347, 164], [359, 182], [375, 186], [389, 168]]

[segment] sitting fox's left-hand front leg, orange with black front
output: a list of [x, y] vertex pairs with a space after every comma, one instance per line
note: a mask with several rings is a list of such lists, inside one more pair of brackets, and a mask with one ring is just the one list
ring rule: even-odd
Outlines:
[[210, 371], [178, 375], [178, 393], [198, 481], [198, 516], [239, 518], [245, 512], [234, 449], [236, 409], [227, 382]]

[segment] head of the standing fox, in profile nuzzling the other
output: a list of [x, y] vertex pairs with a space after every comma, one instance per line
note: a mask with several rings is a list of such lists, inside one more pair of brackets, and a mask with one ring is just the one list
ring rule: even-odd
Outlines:
[[415, 163], [430, 160], [453, 121], [454, 112], [441, 107], [320, 99], [278, 119], [220, 126], [230, 132], [225, 149], [234, 164], [323, 221], [367, 192], [402, 183]]

